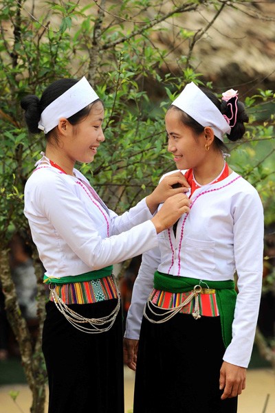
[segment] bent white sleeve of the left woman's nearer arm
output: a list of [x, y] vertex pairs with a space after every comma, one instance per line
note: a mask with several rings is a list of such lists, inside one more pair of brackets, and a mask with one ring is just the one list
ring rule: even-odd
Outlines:
[[45, 242], [42, 221], [45, 217], [45, 225], [50, 222], [53, 227], [52, 236], [61, 236], [91, 269], [120, 263], [157, 245], [157, 232], [150, 220], [121, 234], [102, 238], [82, 201], [56, 174], [52, 174], [51, 179], [40, 177], [38, 185], [27, 183], [25, 215], [29, 221], [40, 225], [41, 234], [36, 234], [40, 243]]

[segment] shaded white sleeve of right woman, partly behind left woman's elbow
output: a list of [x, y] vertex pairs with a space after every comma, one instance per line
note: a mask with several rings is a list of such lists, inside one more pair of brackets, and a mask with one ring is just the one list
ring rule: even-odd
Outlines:
[[131, 305], [126, 318], [126, 330], [124, 334], [126, 338], [139, 339], [140, 337], [140, 325], [142, 323], [144, 305], [146, 304], [148, 295], [153, 289], [154, 273], [157, 271], [159, 263], [160, 252], [158, 247], [142, 255], [142, 263], [133, 286]]

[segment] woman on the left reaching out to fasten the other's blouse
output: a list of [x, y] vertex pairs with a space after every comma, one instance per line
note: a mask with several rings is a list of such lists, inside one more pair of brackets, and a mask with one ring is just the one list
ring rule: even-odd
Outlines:
[[24, 212], [50, 289], [43, 328], [49, 412], [124, 413], [122, 317], [112, 266], [155, 247], [157, 233], [189, 212], [186, 179], [176, 172], [118, 216], [74, 168], [76, 161], [93, 161], [104, 142], [104, 108], [89, 82], [56, 80], [41, 99], [26, 96], [21, 106], [29, 131], [43, 131], [47, 140], [25, 185]]

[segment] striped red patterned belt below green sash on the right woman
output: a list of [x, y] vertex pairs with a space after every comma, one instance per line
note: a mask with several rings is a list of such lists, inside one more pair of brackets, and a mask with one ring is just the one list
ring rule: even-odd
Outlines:
[[[182, 302], [192, 294], [192, 291], [185, 293], [170, 293], [168, 291], [161, 291], [153, 289], [149, 300], [162, 309], [173, 309], [179, 306]], [[216, 300], [216, 290], [214, 289], [201, 289], [201, 293], [198, 295], [199, 299], [199, 314], [206, 317], [217, 317], [219, 310]], [[182, 307], [179, 313], [192, 314], [195, 309], [195, 298], [193, 298], [188, 304]]]

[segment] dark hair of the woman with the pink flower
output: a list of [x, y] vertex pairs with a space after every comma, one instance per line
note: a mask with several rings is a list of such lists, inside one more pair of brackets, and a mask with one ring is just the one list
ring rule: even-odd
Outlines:
[[[227, 112], [227, 102], [225, 100], [220, 101], [217, 96], [207, 89], [206, 87], [199, 87], [203, 93], [206, 94], [208, 99], [211, 100], [211, 102], [219, 109], [219, 111], [225, 115]], [[177, 109], [181, 111], [178, 107], [175, 107], [173, 104], [170, 105], [169, 109]], [[226, 136], [228, 139], [232, 142], [235, 142], [236, 140], [239, 140], [243, 137], [245, 133], [245, 126], [244, 122], [248, 122], [248, 114], [245, 112], [245, 106], [242, 102], [237, 100], [237, 116], [236, 116], [236, 124], [231, 128], [230, 135], [228, 133]], [[203, 132], [204, 126], [199, 124], [195, 119], [191, 118], [190, 115], [188, 115], [186, 112], [181, 111], [181, 122], [185, 124], [186, 126], [189, 126], [195, 133], [199, 135], [199, 133]], [[219, 139], [217, 136], [214, 137], [214, 148], [220, 149], [220, 150], [228, 150], [226, 148], [225, 144]]]

